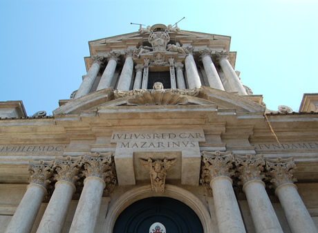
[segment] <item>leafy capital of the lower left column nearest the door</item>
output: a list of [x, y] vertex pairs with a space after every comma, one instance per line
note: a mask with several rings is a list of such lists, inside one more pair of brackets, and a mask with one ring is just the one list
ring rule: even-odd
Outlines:
[[99, 154], [93, 156], [84, 156], [84, 171], [83, 174], [86, 178], [97, 177], [105, 181], [106, 171], [111, 167], [112, 153], [109, 152], [101, 157]]

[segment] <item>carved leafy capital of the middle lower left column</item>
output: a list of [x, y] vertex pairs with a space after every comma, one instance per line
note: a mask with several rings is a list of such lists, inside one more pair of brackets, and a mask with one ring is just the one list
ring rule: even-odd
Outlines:
[[82, 156], [72, 160], [71, 156], [67, 158], [59, 158], [54, 161], [53, 169], [55, 169], [55, 180], [65, 180], [69, 183], [75, 184], [79, 179], [79, 169], [82, 166]]

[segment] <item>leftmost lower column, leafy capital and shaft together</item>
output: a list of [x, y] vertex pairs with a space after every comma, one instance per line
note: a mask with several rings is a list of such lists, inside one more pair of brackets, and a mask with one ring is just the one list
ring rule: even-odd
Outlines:
[[6, 233], [30, 233], [39, 207], [47, 193], [46, 186], [50, 183], [48, 178], [53, 174], [51, 167], [44, 165], [44, 161], [40, 160], [38, 163], [30, 163], [28, 169], [30, 185], [12, 216]]

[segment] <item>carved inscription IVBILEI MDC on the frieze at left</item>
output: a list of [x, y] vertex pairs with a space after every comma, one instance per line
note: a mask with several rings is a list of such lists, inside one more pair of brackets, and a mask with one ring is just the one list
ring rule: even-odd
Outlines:
[[0, 153], [10, 152], [62, 152], [66, 145], [0, 145]]

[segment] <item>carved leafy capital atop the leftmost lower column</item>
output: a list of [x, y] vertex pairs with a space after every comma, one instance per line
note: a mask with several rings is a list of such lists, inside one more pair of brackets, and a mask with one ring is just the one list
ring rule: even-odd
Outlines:
[[52, 165], [45, 165], [43, 160], [39, 160], [39, 162], [30, 161], [28, 170], [30, 172], [28, 183], [41, 185], [46, 189], [50, 183], [50, 178], [53, 176]]

